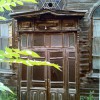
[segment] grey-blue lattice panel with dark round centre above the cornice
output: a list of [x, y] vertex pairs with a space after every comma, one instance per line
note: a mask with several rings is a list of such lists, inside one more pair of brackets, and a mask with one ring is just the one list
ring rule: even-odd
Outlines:
[[62, 10], [66, 4], [66, 0], [39, 0], [39, 8], [42, 9], [59, 9]]

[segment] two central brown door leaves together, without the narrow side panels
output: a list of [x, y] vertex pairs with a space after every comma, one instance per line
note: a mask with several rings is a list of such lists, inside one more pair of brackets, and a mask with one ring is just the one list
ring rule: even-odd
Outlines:
[[[34, 66], [31, 68], [30, 100], [63, 100], [64, 98], [64, 55], [63, 50], [38, 51], [45, 54], [45, 58], [59, 64], [62, 71], [53, 67]], [[40, 58], [44, 60], [44, 58]]]

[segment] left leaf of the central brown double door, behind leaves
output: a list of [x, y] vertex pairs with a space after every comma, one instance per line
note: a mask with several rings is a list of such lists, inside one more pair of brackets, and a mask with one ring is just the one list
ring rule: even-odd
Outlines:
[[[41, 58], [34, 58], [38, 61], [44, 61], [46, 58], [45, 50], [34, 50]], [[34, 60], [33, 59], [33, 60]], [[30, 100], [47, 100], [47, 67], [33, 66], [30, 72]]]

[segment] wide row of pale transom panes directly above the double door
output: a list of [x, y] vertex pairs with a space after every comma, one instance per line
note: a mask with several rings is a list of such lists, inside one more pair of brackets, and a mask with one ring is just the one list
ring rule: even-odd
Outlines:
[[21, 47], [75, 47], [76, 33], [23, 33], [21, 34]]

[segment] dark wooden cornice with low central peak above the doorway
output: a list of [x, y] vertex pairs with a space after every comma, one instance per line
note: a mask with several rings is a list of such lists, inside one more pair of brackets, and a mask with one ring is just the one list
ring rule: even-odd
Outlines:
[[65, 10], [53, 10], [53, 9], [41, 9], [39, 11], [29, 11], [29, 12], [16, 12], [10, 14], [14, 18], [21, 18], [21, 17], [35, 17], [38, 15], [43, 14], [51, 14], [55, 16], [80, 16], [83, 17], [86, 12], [80, 11], [65, 11]]

